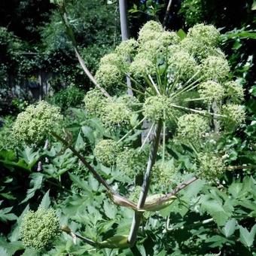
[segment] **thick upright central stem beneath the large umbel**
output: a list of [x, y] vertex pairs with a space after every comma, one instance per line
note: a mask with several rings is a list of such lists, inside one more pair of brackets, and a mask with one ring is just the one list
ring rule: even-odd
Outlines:
[[[137, 208], [142, 208], [145, 204], [146, 197], [148, 195], [148, 189], [149, 189], [149, 184], [150, 184], [150, 175], [151, 175], [151, 169], [154, 166], [154, 163], [156, 161], [157, 157], [157, 150], [158, 150], [158, 145], [160, 142], [160, 133], [162, 130], [162, 121], [159, 120], [157, 123], [157, 127], [155, 130], [154, 134], [154, 139], [153, 139], [153, 144], [151, 145], [151, 152], [148, 158], [148, 166], [144, 175], [144, 180], [142, 184], [142, 191], [139, 196], [139, 202], [137, 204]], [[130, 228], [130, 234], [128, 236], [128, 242], [130, 242], [130, 246], [133, 246], [136, 242], [136, 237], [137, 233], [139, 230], [139, 226], [142, 220], [142, 212], [134, 212], [133, 216], [133, 223]]]

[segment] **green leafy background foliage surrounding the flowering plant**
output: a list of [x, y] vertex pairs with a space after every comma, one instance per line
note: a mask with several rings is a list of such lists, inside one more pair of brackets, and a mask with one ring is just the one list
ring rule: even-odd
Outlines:
[[[194, 6], [194, 8], [188, 8]], [[81, 105], [83, 91], [90, 87], [81, 72], [71, 44], [56, 9], [49, 2], [2, 1], [0, 10], [0, 111], [16, 114], [26, 105], [26, 95], [17, 96], [8, 87], [7, 75], [17, 81], [38, 69], [52, 72], [53, 89], [60, 90], [47, 100], [59, 105], [66, 115], [65, 126], [72, 134], [75, 148], [108, 179], [112, 186], [121, 182], [123, 194], [130, 194], [120, 172], [96, 163], [96, 142], [109, 138], [102, 123], [91, 118]], [[120, 41], [117, 2], [73, 1], [69, 5], [70, 23], [79, 49], [93, 73], [99, 59]], [[130, 34], [137, 36], [139, 25], [146, 20], [160, 20], [166, 10], [165, 1], [130, 1]], [[240, 15], [237, 15], [239, 13]], [[247, 109], [246, 123], [236, 133], [221, 138], [218, 148], [229, 151], [230, 166], [256, 166], [256, 78], [254, 66], [255, 3], [253, 1], [173, 1], [168, 28], [183, 29], [194, 23], [214, 24], [226, 32], [222, 50], [229, 58], [234, 75], [242, 81]], [[19, 22], [17, 22], [19, 20]], [[23, 55], [35, 52], [35, 56]], [[25, 104], [25, 105], [24, 105]], [[102, 187], [81, 165], [69, 149], [49, 138], [39, 148], [17, 147], [10, 136], [14, 117], [2, 118], [0, 128], [0, 254], [36, 255], [20, 242], [20, 221], [29, 209], [52, 206], [62, 224], [92, 239], [106, 239], [113, 233], [127, 233], [133, 212], [105, 200]], [[180, 153], [182, 165], [190, 168], [187, 148], [169, 146], [169, 154]], [[180, 151], [179, 151], [180, 150]], [[219, 184], [197, 181], [187, 187], [179, 200], [144, 220], [144, 232], [137, 252], [102, 249], [63, 234], [45, 254], [93, 255], [251, 255], [255, 251], [256, 233], [255, 168], [227, 172]], [[125, 221], [124, 221], [125, 220]]]

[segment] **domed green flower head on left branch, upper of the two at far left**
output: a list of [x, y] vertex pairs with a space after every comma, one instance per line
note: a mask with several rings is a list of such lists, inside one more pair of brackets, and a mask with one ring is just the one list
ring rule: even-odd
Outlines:
[[47, 102], [29, 105], [17, 116], [13, 126], [14, 139], [26, 145], [38, 144], [50, 135], [55, 124], [61, 120], [59, 108]]

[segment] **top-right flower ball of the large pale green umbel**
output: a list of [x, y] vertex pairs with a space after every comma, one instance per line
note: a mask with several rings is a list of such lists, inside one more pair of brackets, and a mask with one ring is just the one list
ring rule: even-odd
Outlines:
[[194, 41], [201, 41], [203, 44], [215, 47], [220, 40], [220, 32], [215, 26], [197, 24], [188, 29], [187, 38], [192, 38]]

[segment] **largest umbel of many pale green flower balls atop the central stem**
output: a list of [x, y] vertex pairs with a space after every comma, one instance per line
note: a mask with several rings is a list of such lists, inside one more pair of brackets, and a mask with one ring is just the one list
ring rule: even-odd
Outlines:
[[[96, 79], [114, 97], [108, 99], [99, 90], [90, 90], [84, 98], [88, 114], [99, 117], [110, 131], [124, 126], [135, 129], [137, 126], [131, 121], [135, 114], [137, 123], [151, 122], [149, 133], [161, 121], [161, 166], [167, 166], [164, 162], [169, 160], [164, 149], [165, 136], [169, 123], [174, 123], [175, 142], [190, 146], [202, 159], [195, 161], [197, 175], [209, 180], [218, 177], [224, 171], [223, 160], [217, 153], [204, 154], [203, 145], [211, 147], [214, 143], [211, 145], [209, 141], [235, 130], [245, 120], [242, 86], [232, 78], [227, 59], [218, 48], [219, 39], [220, 32], [211, 25], [197, 24], [181, 40], [175, 32], [164, 31], [160, 23], [146, 23], [137, 40], [123, 41], [114, 52], [102, 57]], [[127, 77], [133, 96], [126, 96]], [[129, 150], [129, 145], [123, 147], [126, 152], [122, 150], [122, 140], [99, 142], [96, 158], [120, 171], [126, 169], [126, 175], [131, 176], [129, 161], [120, 161], [120, 156], [124, 157]], [[207, 161], [211, 166], [203, 164]]]

